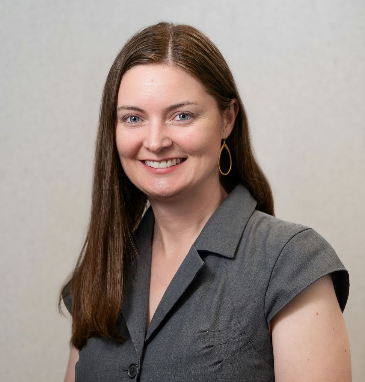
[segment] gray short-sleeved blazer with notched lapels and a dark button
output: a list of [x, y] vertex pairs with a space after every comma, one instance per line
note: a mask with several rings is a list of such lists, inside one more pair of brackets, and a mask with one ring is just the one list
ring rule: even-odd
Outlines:
[[[349, 273], [315, 230], [255, 209], [238, 184], [215, 210], [152, 317], [147, 304], [154, 215], [136, 230], [139, 264], [122, 304], [118, 344], [90, 338], [79, 352], [76, 382], [275, 381], [268, 327], [300, 291], [331, 274], [341, 311]], [[71, 312], [71, 298], [64, 302]]]

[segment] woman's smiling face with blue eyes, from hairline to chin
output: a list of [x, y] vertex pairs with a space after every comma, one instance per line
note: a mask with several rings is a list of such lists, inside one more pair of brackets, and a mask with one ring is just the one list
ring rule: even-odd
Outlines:
[[231, 129], [224, 134], [215, 98], [185, 71], [132, 67], [120, 83], [117, 116], [121, 165], [147, 197], [189, 195], [218, 184], [221, 139]]

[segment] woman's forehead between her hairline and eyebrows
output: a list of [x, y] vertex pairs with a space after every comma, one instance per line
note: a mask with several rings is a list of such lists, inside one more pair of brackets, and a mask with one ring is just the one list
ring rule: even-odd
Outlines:
[[124, 73], [118, 90], [118, 105], [138, 102], [156, 106], [181, 100], [195, 100], [200, 104], [215, 101], [197, 79], [176, 66], [133, 66]]

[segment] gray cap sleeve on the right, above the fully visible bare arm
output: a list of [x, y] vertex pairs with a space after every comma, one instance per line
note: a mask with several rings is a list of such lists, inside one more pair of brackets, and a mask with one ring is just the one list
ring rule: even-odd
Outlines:
[[294, 235], [281, 250], [265, 295], [265, 317], [270, 320], [308, 285], [331, 274], [343, 312], [349, 296], [349, 272], [331, 245], [312, 228]]

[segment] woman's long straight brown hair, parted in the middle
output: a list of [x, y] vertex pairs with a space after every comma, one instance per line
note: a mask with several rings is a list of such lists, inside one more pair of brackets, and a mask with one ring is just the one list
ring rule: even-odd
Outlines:
[[[217, 101], [221, 116], [231, 100], [239, 111], [226, 138], [232, 156], [228, 175], [220, 181], [229, 193], [243, 183], [257, 200], [256, 209], [274, 216], [270, 185], [255, 160], [246, 112], [233, 75], [222, 54], [203, 32], [187, 24], [160, 22], [139, 30], [116, 56], [103, 89], [95, 144], [92, 204], [86, 239], [76, 265], [63, 284], [72, 300], [70, 345], [81, 349], [88, 338], [102, 336], [120, 342], [117, 322], [126, 280], [137, 264], [134, 231], [145, 211], [147, 197], [134, 186], [121, 167], [115, 144], [116, 100], [123, 74], [132, 66], [176, 65], [194, 76]], [[223, 153], [226, 150], [223, 150]], [[227, 172], [229, 157], [222, 153]]]

